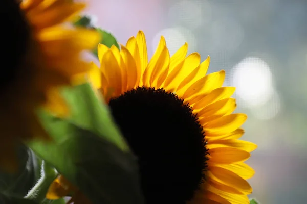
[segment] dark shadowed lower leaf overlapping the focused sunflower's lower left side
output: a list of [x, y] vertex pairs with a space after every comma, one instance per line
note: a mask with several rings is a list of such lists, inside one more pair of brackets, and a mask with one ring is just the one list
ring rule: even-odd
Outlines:
[[93, 203], [143, 203], [137, 161], [130, 152], [68, 121], [58, 120], [52, 126], [64, 139], [49, 144], [34, 142], [32, 149]]

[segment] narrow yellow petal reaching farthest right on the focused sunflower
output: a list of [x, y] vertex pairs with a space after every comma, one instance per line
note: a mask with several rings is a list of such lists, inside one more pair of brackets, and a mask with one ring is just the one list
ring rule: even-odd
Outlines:
[[237, 139], [208, 141], [207, 146], [209, 149], [217, 147], [232, 147], [232, 148], [242, 149], [247, 152], [251, 152], [257, 148], [257, 145], [252, 142], [237, 140]]

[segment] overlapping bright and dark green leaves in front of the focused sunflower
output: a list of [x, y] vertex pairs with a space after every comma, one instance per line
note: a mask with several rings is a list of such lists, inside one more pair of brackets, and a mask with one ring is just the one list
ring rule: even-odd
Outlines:
[[[72, 117], [41, 112], [54, 139], [29, 146], [95, 203], [143, 203], [137, 161], [89, 84], [63, 91]], [[120, 187], [120, 188], [119, 188]]]

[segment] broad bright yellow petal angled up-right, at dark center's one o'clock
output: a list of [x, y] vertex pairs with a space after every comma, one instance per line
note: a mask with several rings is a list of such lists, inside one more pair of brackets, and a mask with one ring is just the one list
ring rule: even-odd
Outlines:
[[[176, 90], [179, 84], [199, 66], [201, 62], [201, 56], [199, 53], [190, 54], [185, 60], [182, 66], [176, 66], [168, 75], [165, 80], [165, 89]], [[181, 64], [181, 63], [179, 63]]]

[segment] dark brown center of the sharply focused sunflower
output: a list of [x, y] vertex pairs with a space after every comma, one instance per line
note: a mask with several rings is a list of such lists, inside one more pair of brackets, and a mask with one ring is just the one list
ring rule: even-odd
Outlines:
[[204, 180], [205, 133], [192, 108], [164, 89], [138, 87], [109, 102], [139, 159], [146, 203], [181, 204]]

